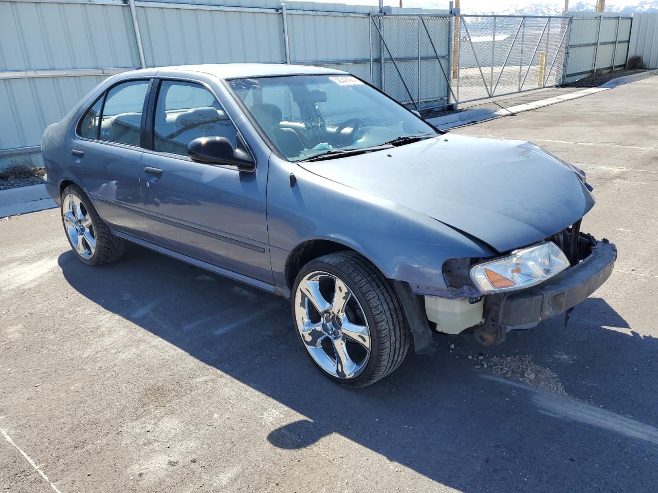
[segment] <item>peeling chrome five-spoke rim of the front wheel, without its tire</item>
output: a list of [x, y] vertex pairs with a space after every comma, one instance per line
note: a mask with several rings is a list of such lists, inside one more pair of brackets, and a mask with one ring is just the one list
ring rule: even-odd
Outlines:
[[295, 323], [311, 357], [339, 379], [357, 377], [370, 358], [368, 321], [352, 291], [333, 274], [306, 275], [295, 293]]

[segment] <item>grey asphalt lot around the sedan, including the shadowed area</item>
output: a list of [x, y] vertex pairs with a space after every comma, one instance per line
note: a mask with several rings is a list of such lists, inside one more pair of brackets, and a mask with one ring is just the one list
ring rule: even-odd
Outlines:
[[615, 271], [567, 327], [442, 337], [360, 390], [282, 298], [141, 247], [90, 268], [57, 209], [0, 220], [0, 490], [657, 491], [656, 103], [652, 78], [455, 131], [583, 168]]

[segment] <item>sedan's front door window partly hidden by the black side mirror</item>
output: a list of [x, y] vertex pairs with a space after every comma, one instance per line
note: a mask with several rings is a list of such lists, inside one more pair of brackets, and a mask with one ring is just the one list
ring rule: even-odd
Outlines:
[[226, 137], [236, 147], [238, 131], [205, 87], [163, 80], [155, 103], [153, 150], [188, 155], [197, 137]]

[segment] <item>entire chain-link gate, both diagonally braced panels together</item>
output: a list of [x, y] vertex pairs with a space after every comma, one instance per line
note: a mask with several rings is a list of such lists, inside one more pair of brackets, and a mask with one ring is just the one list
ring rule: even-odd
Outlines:
[[569, 17], [373, 15], [370, 80], [418, 110], [564, 81]]

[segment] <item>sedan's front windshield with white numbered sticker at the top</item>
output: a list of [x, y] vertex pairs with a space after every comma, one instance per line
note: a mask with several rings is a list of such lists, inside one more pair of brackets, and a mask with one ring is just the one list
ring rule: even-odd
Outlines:
[[353, 76], [263, 77], [228, 84], [289, 161], [436, 135], [418, 116]]

